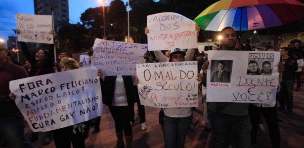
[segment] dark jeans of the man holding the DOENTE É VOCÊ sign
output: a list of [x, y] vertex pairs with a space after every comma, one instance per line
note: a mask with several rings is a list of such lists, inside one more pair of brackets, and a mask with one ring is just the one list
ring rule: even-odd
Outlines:
[[212, 128], [212, 148], [225, 148], [231, 134], [236, 148], [251, 147], [251, 123], [247, 115], [229, 115], [208, 110]]

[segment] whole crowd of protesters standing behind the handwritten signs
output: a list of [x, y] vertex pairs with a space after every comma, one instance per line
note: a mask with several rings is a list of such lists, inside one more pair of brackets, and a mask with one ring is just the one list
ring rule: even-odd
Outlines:
[[[197, 32], [200, 28], [195, 26]], [[51, 32], [53, 35], [55, 33]], [[148, 34], [148, 28], [145, 29], [145, 34]], [[224, 28], [220, 35], [223, 37], [220, 40], [222, 49], [214, 44], [213, 50], [238, 50], [237, 36], [231, 27]], [[244, 42], [242, 50], [260, 51], [262, 48], [253, 46], [250, 42]], [[49, 49], [39, 49], [35, 56], [33, 56], [25, 42], [21, 42], [21, 50], [26, 59], [24, 65], [13, 64], [7, 56], [7, 48], [4, 42], [0, 42], [0, 137], [4, 140], [3, 147], [12, 146], [13, 148], [34, 148], [32, 143], [38, 140], [38, 133], [33, 132], [30, 140], [24, 136], [23, 117], [21, 112], [17, 109], [14, 99], [15, 96], [9, 91], [9, 81], [28, 76], [37, 76], [43, 74], [52, 74], [55, 72], [64, 72], [78, 69], [81, 62], [75, 61], [72, 58], [66, 57], [64, 52], [60, 53], [60, 59], [55, 63], [54, 44], [51, 44]], [[208, 54], [202, 51], [197, 52], [197, 49], [188, 49], [184, 51], [180, 48], [168, 50], [165, 53], [161, 51], [147, 51], [143, 55], [146, 63], [152, 62], [182, 62], [192, 61], [198, 62], [197, 81], [199, 82], [200, 93], [203, 96], [203, 116], [204, 123], [207, 129], [212, 129], [212, 143], [213, 148], [231, 147], [233, 144], [237, 148], [251, 148], [256, 146], [257, 129], [265, 131], [262, 121], [265, 119], [269, 129], [269, 137], [273, 148], [280, 148], [280, 131], [276, 111], [286, 110], [288, 113], [293, 112], [293, 90], [300, 90], [301, 75], [303, 61], [303, 47], [300, 43], [295, 43], [294, 48], [282, 47], [274, 50], [270, 42], [263, 48], [265, 51], [280, 52], [281, 59], [277, 65], [278, 73], [281, 74], [280, 85], [278, 86], [277, 105], [270, 104], [249, 104], [249, 103], [215, 103], [206, 101], [206, 76], [209, 65]], [[91, 51], [90, 51], [91, 52]], [[92, 55], [90, 53], [88, 55]], [[57, 65], [54, 68], [54, 64]], [[255, 62], [249, 63], [248, 74], [271, 74], [272, 69], [269, 69], [271, 64], [264, 62], [261, 65], [261, 70]], [[134, 102], [137, 102], [138, 114], [140, 116], [140, 127], [146, 130], [145, 125], [145, 109], [140, 104], [137, 92], [138, 78], [130, 75], [115, 75], [103, 77], [98, 70], [96, 72], [100, 76], [103, 103], [108, 106], [111, 115], [115, 122], [115, 131], [117, 136], [115, 148], [124, 148], [125, 140], [127, 148], [132, 148], [132, 125], [134, 123]], [[293, 88], [295, 79], [297, 80], [297, 87]], [[201, 107], [201, 106], [199, 106]], [[286, 107], [286, 109], [285, 109]], [[188, 130], [195, 130], [193, 127], [193, 114], [191, 108], [164, 108], [163, 122], [161, 124], [165, 148], [183, 148], [185, 138]], [[7, 113], [9, 112], [9, 113]], [[99, 132], [100, 117], [93, 120], [95, 132]], [[85, 138], [89, 126], [92, 121], [78, 123], [76, 125], [56, 129], [46, 132], [46, 139], [44, 145], [48, 145], [54, 139], [56, 148], [70, 148], [71, 143], [73, 148], [85, 148]], [[11, 125], [11, 126], [10, 126]], [[192, 126], [191, 126], [192, 125]], [[5, 129], [4, 129], [5, 128]], [[14, 130], [14, 131], [13, 131]], [[13, 131], [13, 132], [11, 132]], [[232, 137], [229, 138], [229, 137]]]

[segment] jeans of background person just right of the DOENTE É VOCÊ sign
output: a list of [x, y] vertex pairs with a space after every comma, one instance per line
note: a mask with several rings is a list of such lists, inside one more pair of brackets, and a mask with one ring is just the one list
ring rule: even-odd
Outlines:
[[284, 80], [283, 82], [281, 82], [280, 93], [283, 94], [283, 97], [279, 98], [279, 104], [281, 108], [285, 108], [285, 105], [287, 109], [293, 108], [293, 101], [294, 101], [293, 89], [294, 89], [293, 80]]

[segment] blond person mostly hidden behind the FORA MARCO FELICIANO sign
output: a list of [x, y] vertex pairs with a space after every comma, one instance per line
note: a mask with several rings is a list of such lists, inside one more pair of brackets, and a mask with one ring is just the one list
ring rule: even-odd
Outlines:
[[[61, 58], [59, 67], [61, 72], [78, 69], [77, 62], [72, 58]], [[85, 123], [78, 123], [68, 127], [53, 130], [53, 137], [56, 148], [86, 148], [85, 144]]]

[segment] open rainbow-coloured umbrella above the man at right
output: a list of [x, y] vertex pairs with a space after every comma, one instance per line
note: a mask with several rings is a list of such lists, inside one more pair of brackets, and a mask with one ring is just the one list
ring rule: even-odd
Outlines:
[[230, 26], [236, 31], [285, 25], [304, 18], [304, 4], [297, 0], [220, 0], [194, 21], [206, 31]]

